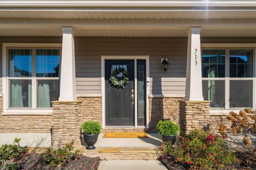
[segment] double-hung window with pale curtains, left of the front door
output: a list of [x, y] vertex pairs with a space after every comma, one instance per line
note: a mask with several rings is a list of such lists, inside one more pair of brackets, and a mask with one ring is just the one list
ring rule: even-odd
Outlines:
[[59, 98], [60, 49], [6, 49], [7, 109], [49, 109]]

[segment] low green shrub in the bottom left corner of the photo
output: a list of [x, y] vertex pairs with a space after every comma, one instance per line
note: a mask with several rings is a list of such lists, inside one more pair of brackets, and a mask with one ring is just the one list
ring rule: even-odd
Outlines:
[[27, 152], [27, 146], [20, 146], [20, 139], [15, 138], [12, 145], [2, 145], [0, 148], [1, 169], [19, 169], [18, 159]]

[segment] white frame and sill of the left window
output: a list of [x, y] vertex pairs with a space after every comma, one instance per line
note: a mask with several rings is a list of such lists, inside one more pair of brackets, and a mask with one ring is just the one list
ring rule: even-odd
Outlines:
[[[40, 78], [36, 77], [36, 49], [60, 49], [61, 56], [62, 44], [58, 43], [3, 43], [3, 115], [17, 115], [17, 114], [39, 114], [50, 115], [52, 108], [37, 108], [37, 80], [59, 80], [60, 78]], [[12, 77], [9, 78], [9, 63], [8, 63], [8, 49], [32, 49], [33, 56], [33, 75], [32, 77]], [[61, 60], [60, 60], [61, 61]], [[31, 108], [9, 108], [9, 80], [31, 80], [32, 85], [32, 107]]]

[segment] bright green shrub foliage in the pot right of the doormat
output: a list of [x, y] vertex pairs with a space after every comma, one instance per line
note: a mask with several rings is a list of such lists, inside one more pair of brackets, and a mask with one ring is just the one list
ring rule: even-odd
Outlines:
[[167, 136], [177, 136], [180, 132], [180, 127], [178, 124], [175, 124], [173, 121], [159, 121], [156, 125], [156, 130], [161, 135]]

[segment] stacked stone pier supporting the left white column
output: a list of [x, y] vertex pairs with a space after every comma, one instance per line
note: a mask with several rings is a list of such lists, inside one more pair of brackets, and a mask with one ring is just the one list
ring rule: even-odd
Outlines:
[[81, 145], [81, 101], [53, 101], [52, 109], [52, 147], [63, 147], [71, 140], [75, 147]]

